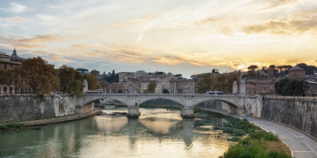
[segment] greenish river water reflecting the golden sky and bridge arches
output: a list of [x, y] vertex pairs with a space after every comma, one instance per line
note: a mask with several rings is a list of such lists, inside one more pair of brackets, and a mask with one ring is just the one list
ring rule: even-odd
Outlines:
[[140, 109], [138, 119], [110, 115], [127, 109], [107, 106], [94, 116], [40, 129], [0, 134], [0, 157], [219, 157], [232, 142], [213, 126], [184, 119], [180, 111]]

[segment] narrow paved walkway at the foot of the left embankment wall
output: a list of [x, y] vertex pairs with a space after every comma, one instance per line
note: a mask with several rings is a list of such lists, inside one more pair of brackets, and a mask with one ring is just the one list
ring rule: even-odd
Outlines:
[[83, 118], [97, 115], [99, 113], [100, 113], [99, 110], [93, 110], [93, 111], [90, 111], [90, 112], [85, 113], [85, 114], [75, 114], [75, 115], [49, 118], [49, 119], [41, 119], [41, 120], [0, 123], [0, 126], [4, 126], [4, 125], [8, 125], [8, 124], [24, 124], [25, 126], [41, 126], [41, 125], [46, 125], [46, 124], [54, 124], [54, 123], [59, 123], [59, 122], [66, 122], [66, 121], [83, 119]]

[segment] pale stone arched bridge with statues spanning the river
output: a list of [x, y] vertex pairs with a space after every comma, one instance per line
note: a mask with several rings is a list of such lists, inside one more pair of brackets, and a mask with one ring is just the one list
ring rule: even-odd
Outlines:
[[168, 99], [181, 104], [181, 116], [184, 118], [194, 118], [193, 107], [199, 103], [208, 100], [220, 100], [228, 104], [230, 112], [235, 114], [245, 113], [247, 107], [254, 103], [261, 103], [261, 97], [250, 97], [247, 95], [215, 95], [215, 94], [169, 94], [169, 93], [118, 93], [118, 94], [84, 94], [82, 98], [77, 99], [76, 107], [80, 108], [86, 104], [95, 102], [100, 99], [110, 98], [122, 102], [128, 107], [128, 117], [139, 117], [139, 105], [143, 102], [153, 99]]

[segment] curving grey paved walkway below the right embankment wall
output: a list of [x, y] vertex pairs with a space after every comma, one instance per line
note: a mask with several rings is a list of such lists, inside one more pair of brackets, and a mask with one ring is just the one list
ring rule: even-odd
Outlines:
[[217, 113], [221, 113], [224, 115], [247, 119], [249, 122], [259, 126], [260, 128], [272, 132], [273, 134], [278, 134], [279, 139], [283, 141], [292, 151], [293, 156], [295, 158], [316, 158], [317, 157], [317, 142], [311, 140], [304, 134], [295, 131], [291, 128], [282, 126], [280, 124], [276, 124], [264, 119], [251, 117], [251, 116], [243, 116], [243, 115], [234, 115], [228, 113], [227, 111], [218, 110], [218, 109], [209, 109], [209, 108], [200, 108], [202, 110], [213, 111]]

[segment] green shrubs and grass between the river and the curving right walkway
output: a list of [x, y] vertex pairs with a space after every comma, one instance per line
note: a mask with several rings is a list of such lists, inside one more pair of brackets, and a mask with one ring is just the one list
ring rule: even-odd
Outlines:
[[[195, 115], [202, 115], [214, 112], [195, 108], [194, 113]], [[292, 158], [291, 150], [278, 138], [278, 135], [264, 131], [260, 127], [249, 123], [247, 119], [223, 117], [227, 120], [227, 123], [214, 127], [214, 130], [222, 130], [224, 133], [228, 133], [232, 136], [228, 140], [237, 143], [230, 146], [220, 157]], [[204, 122], [208, 122], [208, 118], [200, 120], [197, 124], [204, 125]]]

